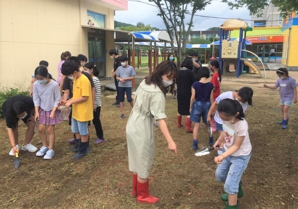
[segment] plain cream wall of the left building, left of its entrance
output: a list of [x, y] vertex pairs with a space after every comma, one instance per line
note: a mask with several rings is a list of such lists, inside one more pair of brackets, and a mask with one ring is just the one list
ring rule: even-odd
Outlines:
[[78, 0], [0, 1], [0, 86], [29, 86], [40, 60], [57, 78], [60, 55], [80, 52]]

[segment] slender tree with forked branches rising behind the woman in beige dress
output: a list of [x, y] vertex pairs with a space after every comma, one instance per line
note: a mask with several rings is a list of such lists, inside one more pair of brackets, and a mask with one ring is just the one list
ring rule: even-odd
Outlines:
[[[158, 15], [165, 23], [166, 30], [170, 34], [171, 47], [174, 49], [174, 42], [177, 43], [175, 55], [177, 64], [180, 66], [182, 56], [188, 43], [189, 33], [193, 27], [193, 17], [198, 10], [205, 8], [212, 0], [149, 0], [158, 7]], [[186, 15], [190, 15], [189, 22], [185, 22]], [[172, 37], [172, 35], [174, 37]], [[183, 39], [183, 41], [182, 41]], [[175, 41], [174, 41], [175, 40]], [[182, 43], [182, 46], [181, 46]]]

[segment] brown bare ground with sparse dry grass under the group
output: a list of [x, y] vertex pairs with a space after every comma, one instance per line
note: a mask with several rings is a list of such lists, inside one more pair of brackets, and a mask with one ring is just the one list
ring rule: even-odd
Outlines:
[[[264, 89], [263, 84], [276, 82], [275, 72], [267, 79], [257, 75], [240, 78], [223, 77], [222, 92], [243, 86], [254, 90], [253, 105], [246, 111], [252, 157], [243, 174], [242, 209], [298, 209], [298, 105], [290, 108], [288, 128], [282, 130], [278, 90]], [[290, 72], [298, 78], [298, 72]], [[263, 74], [264, 77], [264, 74]], [[91, 153], [72, 160], [67, 140], [72, 136], [67, 122], [56, 126], [55, 157], [44, 160], [20, 151], [21, 164], [13, 167], [8, 155], [10, 145], [5, 121], [0, 120], [0, 208], [107, 208], [107, 209], [222, 209], [223, 184], [215, 179], [216, 152], [196, 157], [192, 134], [177, 128], [177, 101], [166, 96], [167, 125], [177, 143], [178, 157], [167, 149], [160, 130], [156, 133], [156, 154], [150, 174], [150, 193], [159, 198], [154, 205], [138, 205], [131, 197], [132, 181], [128, 170], [125, 127], [119, 108], [112, 106], [115, 93], [103, 91], [101, 121], [105, 142], [93, 143], [95, 130], [90, 128]], [[125, 104], [128, 117], [131, 107]], [[183, 118], [183, 120], [185, 120]], [[20, 123], [20, 144], [25, 125]], [[218, 136], [217, 133], [214, 134]], [[208, 145], [208, 135], [200, 128], [199, 147]], [[32, 144], [41, 146], [38, 134]]]

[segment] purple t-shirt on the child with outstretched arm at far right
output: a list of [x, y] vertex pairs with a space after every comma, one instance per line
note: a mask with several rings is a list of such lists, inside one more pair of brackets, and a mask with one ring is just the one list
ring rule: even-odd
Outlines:
[[294, 99], [294, 88], [297, 87], [296, 80], [289, 76], [287, 79], [279, 78], [275, 87], [280, 88], [280, 98], [282, 101]]

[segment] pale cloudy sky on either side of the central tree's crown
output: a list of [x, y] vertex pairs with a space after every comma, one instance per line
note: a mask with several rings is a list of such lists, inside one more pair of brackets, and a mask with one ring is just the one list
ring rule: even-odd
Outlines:
[[[150, 24], [151, 27], [165, 29], [161, 17], [157, 16], [158, 8], [149, 5], [153, 4], [153, 2], [149, 2], [148, 0], [139, 1], [142, 2], [128, 0], [128, 10], [116, 11], [115, 20], [119, 22], [130, 23], [133, 25], [136, 25], [137, 22], [143, 22], [145, 25]], [[147, 2], [149, 4], [143, 2]], [[205, 10], [197, 11], [196, 14], [232, 19], [240, 18], [245, 20], [247, 24], [250, 25], [249, 11], [245, 7], [230, 10], [227, 4], [221, 2], [221, 0], [213, 0], [211, 4], [206, 6]], [[190, 15], [187, 15], [186, 20], [189, 18]], [[226, 19], [194, 16], [194, 27], [192, 28], [192, 30], [206, 30], [211, 27], [219, 27], [221, 24], [224, 23], [225, 20]]]

